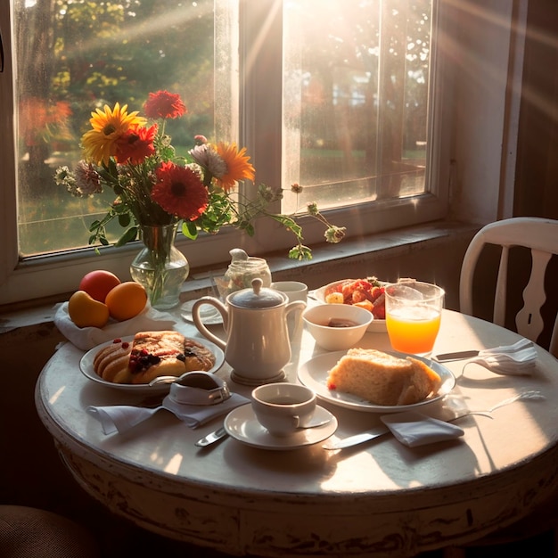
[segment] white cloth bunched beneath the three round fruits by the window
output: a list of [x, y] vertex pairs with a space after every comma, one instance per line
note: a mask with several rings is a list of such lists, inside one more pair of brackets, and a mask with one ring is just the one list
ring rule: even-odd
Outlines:
[[173, 325], [176, 324], [176, 320], [167, 312], [160, 312], [148, 304], [144, 311], [137, 316], [124, 322], [111, 321], [103, 329], [99, 327], [78, 327], [70, 320], [68, 302], [62, 302], [56, 307], [54, 324], [62, 335], [78, 349], [89, 350], [105, 341], [135, 335], [137, 332], [171, 330]]

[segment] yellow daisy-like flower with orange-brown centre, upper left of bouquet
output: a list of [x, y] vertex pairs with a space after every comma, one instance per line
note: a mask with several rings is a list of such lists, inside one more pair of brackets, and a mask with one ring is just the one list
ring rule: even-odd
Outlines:
[[127, 132], [128, 127], [133, 124], [144, 126], [146, 119], [137, 116], [138, 111], [127, 112], [127, 104], [120, 108], [116, 103], [114, 109], [108, 104], [104, 105], [104, 111], [97, 109], [91, 113], [92, 130], [86, 132], [81, 138], [84, 157], [87, 162], [100, 165], [108, 164], [111, 155], [116, 150], [116, 142], [119, 137]]

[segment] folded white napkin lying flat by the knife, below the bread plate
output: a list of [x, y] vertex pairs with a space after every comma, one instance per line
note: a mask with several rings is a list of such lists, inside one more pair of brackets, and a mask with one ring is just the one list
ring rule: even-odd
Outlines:
[[464, 435], [459, 426], [444, 423], [416, 411], [383, 414], [380, 418], [396, 439], [408, 447], [424, 446]]

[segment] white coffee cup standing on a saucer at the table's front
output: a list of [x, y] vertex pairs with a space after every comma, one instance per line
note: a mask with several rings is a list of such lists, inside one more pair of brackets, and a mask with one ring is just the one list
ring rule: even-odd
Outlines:
[[298, 383], [266, 383], [252, 390], [252, 408], [270, 434], [289, 436], [314, 416], [316, 392]]

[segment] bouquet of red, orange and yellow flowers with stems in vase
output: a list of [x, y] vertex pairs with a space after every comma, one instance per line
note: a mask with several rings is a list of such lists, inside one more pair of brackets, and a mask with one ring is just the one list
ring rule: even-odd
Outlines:
[[[226, 225], [252, 235], [254, 219], [266, 216], [295, 235], [297, 243], [289, 251], [290, 258], [312, 257], [311, 250], [303, 244], [297, 216], [267, 209], [282, 197], [281, 190], [258, 185], [254, 199], [236, 191], [239, 181], [251, 181], [255, 177], [246, 148], [239, 149], [236, 144], [226, 142], [212, 144], [197, 135], [187, 156], [176, 154], [171, 138], [165, 133], [165, 124], [186, 112], [180, 96], [167, 91], [149, 94], [144, 104], [147, 118], [138, 111], [128, 112], [127, 105], [119, 103], [113, 108], [105, 105], [103, 110], [96, 109], [90, 119], [91, 129], [81, 138], [83, 160], [73, 170], [58, 168], [54, 176], [58, 185], [78, 197], [101, 193], [104, 188], [114, 192], [116, 197], [106, 216], [95, 220], [89, 228], [90, 244], [110, 244], [106, 226], [114, 219], [125, 229], [114, 242], [116, 246], [134, 241], [138, 236], [146, 245], [146, 240], [151, 239], [152, 263], [146, 286], [156, 308], [157, 301], [165, 294], [169, 275], [178, 275], [175, 283], [179, 289], [188, 273], [186, 269], [185, 275], [180, 276], [176, 274], [176, 265], [168, 266], [171, 252], [176, 250], [173, 241], [179, 226], [192, 240], [201, 232], [215, 234]], [[292, 190], [300, 193], [300, 186], [293, 185]], [[307, 210], [326, 227], [327, 242], [341, 241], [344, 227], [330, 224], [316, 203], [308, 204]], [[162, 232], [161, 227], [170, 227], [170, 231]]]

